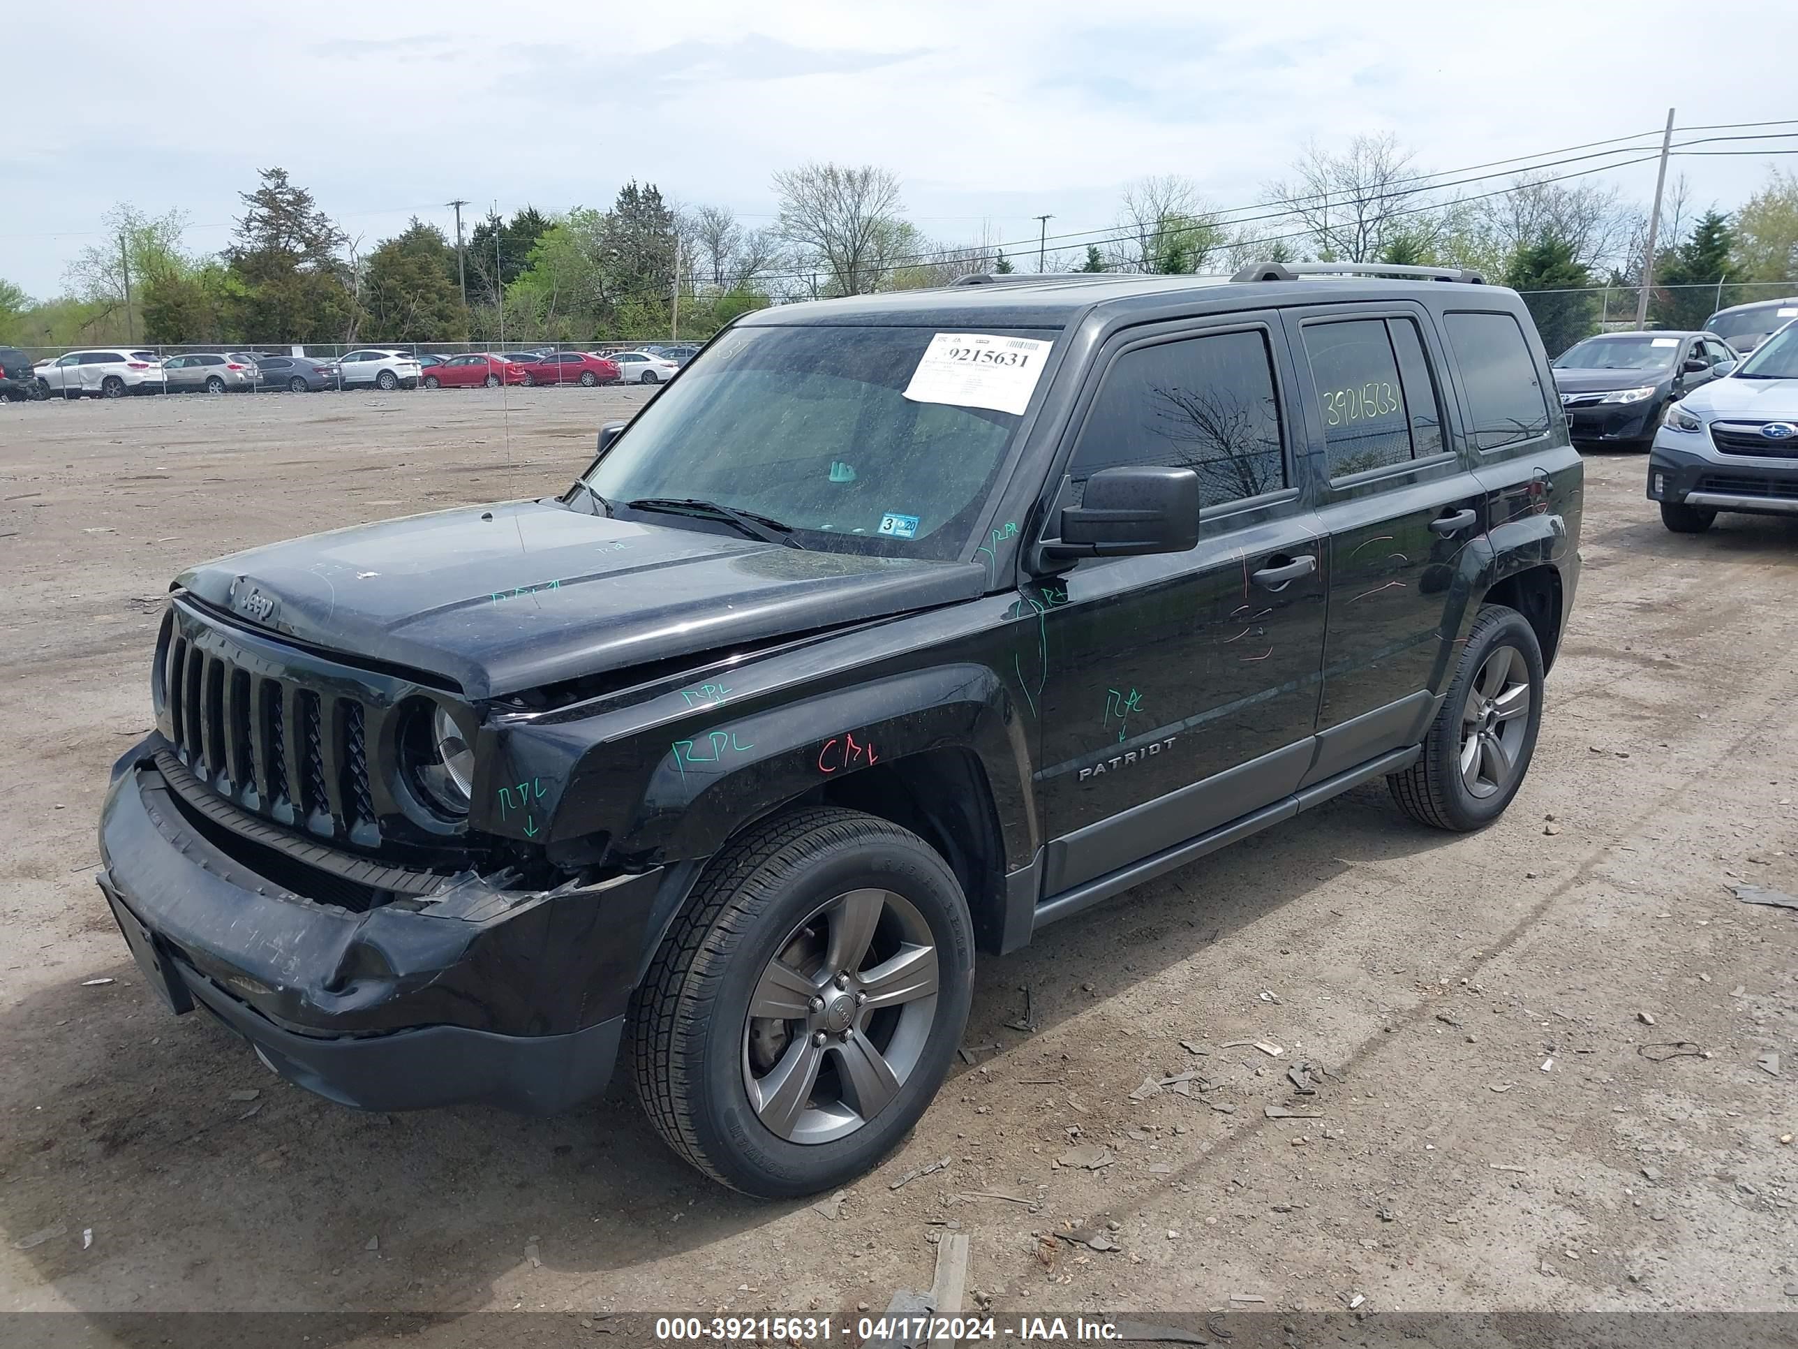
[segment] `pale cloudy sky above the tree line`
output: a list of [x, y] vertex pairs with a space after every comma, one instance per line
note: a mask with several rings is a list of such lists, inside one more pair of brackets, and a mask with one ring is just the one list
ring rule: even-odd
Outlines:
[[[1181, 173], [1246, 205], [1316, 138], [1393, 131], [1455, 169], [1640, 131], [1798, 115], [1798, 5], [1496, 0], [1465, 7], [912, 0], [101, 7], [7, 61], [0, 277], [50, 295], [115, 201], [187, 212], [221, 248], [282, 165], [372, 243], [442, 205], [606, 205], [626, 178], [766, 225], [770, 174], [881, 164], [944, 241], [1106, 225]], [[29, 110], [29, 112], [27, 112]], [[1794, 131], [1798, 124], [1767, 128]], [[1717, 135], [1717, 133], [1703, 133]], [[1652, 137], [1651, 137], [1652, 138]], [[1787, 142], [1798, 147], [1798, 135]], [[1733, 149], [1733, 142], [1708, 149]], [[1769, 165], [1683, 158], [1703, 205]], [[1579, 167], [1579, 165], [1570, 165]], [[1654, 165], [1615, 180], [1647, 200]], [[1467, 189], [1480, 191], [1480, 189]]]

